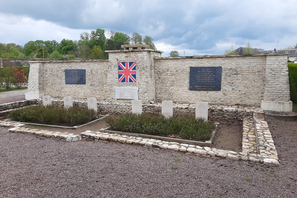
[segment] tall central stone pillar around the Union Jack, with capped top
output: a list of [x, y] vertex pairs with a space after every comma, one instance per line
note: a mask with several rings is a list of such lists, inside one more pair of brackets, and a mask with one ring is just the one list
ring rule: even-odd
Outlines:
[[[122, 45], [124, 50], [108, 50], [107, 101], [130, 102], [130, 99], [116, 99], [116, 87], [138, 87], [138, 99], [147, 103], [156, 98], [154, 57], [161, 57], [162, 51], [149, 49], [149, 45]], [[118, 62], [136, 62], [136, 82], [118, 82]]]

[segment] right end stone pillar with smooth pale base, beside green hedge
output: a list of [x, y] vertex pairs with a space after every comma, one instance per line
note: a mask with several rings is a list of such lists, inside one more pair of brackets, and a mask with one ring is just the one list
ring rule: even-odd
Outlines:
[[291, 112], [287, 54], [266, 54], [263, 110]]

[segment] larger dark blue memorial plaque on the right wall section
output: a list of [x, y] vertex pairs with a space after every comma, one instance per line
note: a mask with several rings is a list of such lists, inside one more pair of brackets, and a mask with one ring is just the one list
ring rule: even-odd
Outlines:
[[220, 91], [222, 67], [190, 67], [189, 90]]

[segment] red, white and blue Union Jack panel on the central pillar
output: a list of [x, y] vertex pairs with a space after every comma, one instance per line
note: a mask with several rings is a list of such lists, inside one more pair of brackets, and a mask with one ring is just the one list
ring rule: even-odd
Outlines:
[[118, 62], [119, 83], [136, 83], [136, 62]]

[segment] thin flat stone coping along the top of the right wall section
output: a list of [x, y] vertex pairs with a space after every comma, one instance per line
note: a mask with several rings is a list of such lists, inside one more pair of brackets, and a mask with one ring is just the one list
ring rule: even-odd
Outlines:
[[206, 55], [206, 56], [181, 56], [181, 57], [154, 57], [157, 59], [183, 59], [183, 58], [216, 58], [216, 57], [242, 57], [242, 56], [277, 56], [288, 55], [290, 53], [269, 53], [269, 54], [247, 54], [247, 55]]

